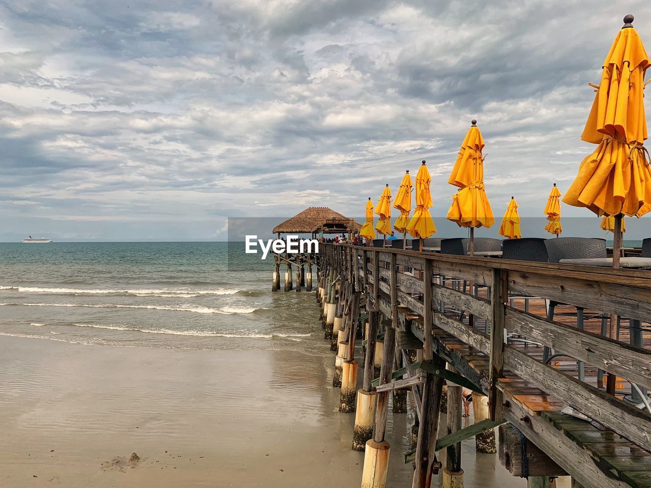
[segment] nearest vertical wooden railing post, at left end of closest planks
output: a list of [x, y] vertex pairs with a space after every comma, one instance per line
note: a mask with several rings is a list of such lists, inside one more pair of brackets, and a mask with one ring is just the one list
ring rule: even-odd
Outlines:
[[504, 376], [504, 316], [508, 301], [508, 277], [502, 269], [493, 270], [492, 317], [490, 321], [490, 392], [488, 406], [491, 420], [502, 418], [502, 392], [497, 380]]

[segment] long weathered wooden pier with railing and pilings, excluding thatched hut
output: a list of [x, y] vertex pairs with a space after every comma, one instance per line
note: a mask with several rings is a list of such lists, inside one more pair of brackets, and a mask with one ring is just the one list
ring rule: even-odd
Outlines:
[[[576, 488], [651, 487], [651, 414], [624, 398], [651, 388], [651, 272], [324, 243], [318, 261], [316, 295], [342, 371], [340, 411], [356, 408], [352, 447], [365, 448], [362, 488], [386, 484], [389, 394], [399, 392], [416, 411], [415, 446], [404, 453], [413, 487], [430, 487], [439, 470], [445, 488], [462, 487], [460, 442], [477, 436], [478, 449], [495, 452], [497, 426], [499, 459], [529, 487], [554, 486], [559, 475]], [[465, 428], [462, 389], [475, 405]]]

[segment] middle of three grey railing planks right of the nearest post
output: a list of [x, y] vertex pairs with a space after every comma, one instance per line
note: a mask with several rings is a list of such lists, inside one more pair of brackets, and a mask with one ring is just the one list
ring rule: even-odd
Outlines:
[[651, 351], [506, 307], [506, 330], [651, 388]]

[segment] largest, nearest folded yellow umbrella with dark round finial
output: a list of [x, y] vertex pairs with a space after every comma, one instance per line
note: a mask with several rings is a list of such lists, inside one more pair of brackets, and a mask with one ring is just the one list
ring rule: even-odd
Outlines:
[[[644, 74], [651, 64], [633, 16], [603, 62], [602, 80], [581, 139], [599, 144], [583, 159], [563, 201], [599, 216], [641, 217], [651, 210], [651, 167], [644, 116]], [[593, 85], [594, 86], [594, 85]], [[617, 239], [617, 237], [615, 237]]]

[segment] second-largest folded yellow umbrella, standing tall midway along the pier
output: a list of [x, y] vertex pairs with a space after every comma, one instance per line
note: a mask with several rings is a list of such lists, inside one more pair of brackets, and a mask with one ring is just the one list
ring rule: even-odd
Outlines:
[[490, 227], [495, 223], [493, 210], [484, 189], [484, 139], [477, 120], [465, 135], [448, 183], [460, 187], [452, 196], [447, 219], [461, 227]]

